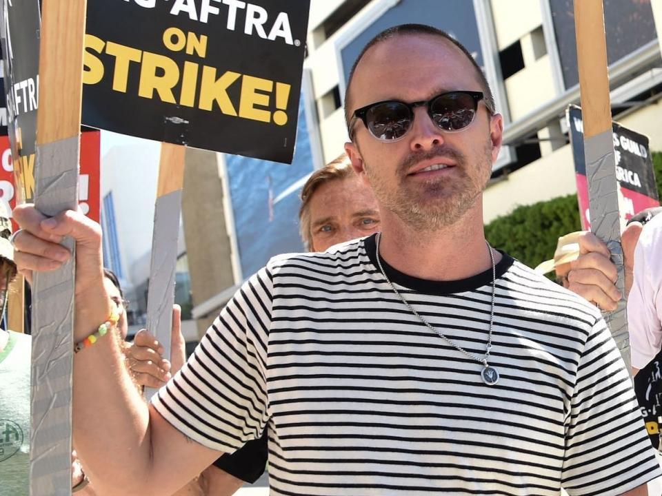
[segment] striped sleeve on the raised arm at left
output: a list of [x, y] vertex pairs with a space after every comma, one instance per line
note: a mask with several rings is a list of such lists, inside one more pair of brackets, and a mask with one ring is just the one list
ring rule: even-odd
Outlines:
[[203, 446], [233, 453], [265, 429], [271, 290], [268, 268], [246, 281], [188, 362], [152, 397], [165, 420]]

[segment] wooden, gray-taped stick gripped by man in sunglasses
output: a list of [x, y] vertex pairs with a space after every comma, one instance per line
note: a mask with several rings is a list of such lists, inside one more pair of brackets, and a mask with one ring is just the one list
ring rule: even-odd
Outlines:
[[[44, 0], [41, 12], [34, 203], [54, 216], [78, 205], [86, 0]], [[71, 494], [73, 260], [32, 285], [31, 496]]]

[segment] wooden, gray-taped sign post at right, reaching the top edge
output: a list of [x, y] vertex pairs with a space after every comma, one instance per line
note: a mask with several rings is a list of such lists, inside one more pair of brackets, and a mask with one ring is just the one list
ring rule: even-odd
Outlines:
[[[607, 244], [619, 272], [616, 287], [625, 295], [621, 216], [612, 143], [612, 112], [602, 0], [574, 0], [574, 23], [591, 230]], [[619, 302], [616, 311], [606, 314], [605, 320], [628, 371], [631, 371], [625, 300]]]

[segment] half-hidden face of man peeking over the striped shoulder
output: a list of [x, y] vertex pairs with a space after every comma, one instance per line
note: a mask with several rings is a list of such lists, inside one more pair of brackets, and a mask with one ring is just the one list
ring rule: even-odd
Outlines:
[[310, 198], [312, 251], [325, 251], [340, 242], [379, 230], [379, 207], [372, 189], [357, 176], [334, 179]]

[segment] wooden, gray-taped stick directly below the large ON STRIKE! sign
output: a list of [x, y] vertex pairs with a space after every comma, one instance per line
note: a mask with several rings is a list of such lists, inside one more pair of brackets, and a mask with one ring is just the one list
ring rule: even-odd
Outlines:
[[[159, 186], [154, 207], [152, 262], [148, 287], [147, 328], [163, 344], [163, 357], [170, 360], [174, 276], [177, 266], [177, 238], [181, 215], [186, 148], [161, 143]], [[145, 388], [147, 398], [157, 389]]]

